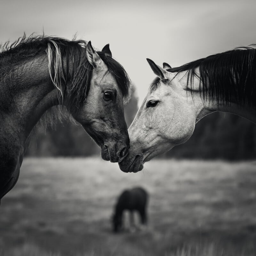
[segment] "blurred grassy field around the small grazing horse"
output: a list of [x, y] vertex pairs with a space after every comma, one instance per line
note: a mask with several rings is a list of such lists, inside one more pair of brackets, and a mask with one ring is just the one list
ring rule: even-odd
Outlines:
[[[256, 255], [256, 162], [27, 158], [1, 202], [1, 256]], [[150, 194], [143, 231], [112, 233], [124, 188]]]

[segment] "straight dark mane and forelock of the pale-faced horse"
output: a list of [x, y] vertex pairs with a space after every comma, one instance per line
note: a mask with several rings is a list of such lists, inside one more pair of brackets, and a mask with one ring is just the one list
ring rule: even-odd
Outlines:
[[[238, 47], [189, 62], [176, 68], [167, 69], [169, 72], [187, 71], [187, 90], [193, 97], [193, 82], [196, 69], [200, 72], [200, 94], [204, 101], [216, 99], [227, 102], [248, 104], [256, 108], [256, 44], [248, 47]], [[155, 79], [149, 90], [159, 86], [160, 79]], [[167, 81], [165, 81], [167, 83]], [[207, 92], [207, 93], [206, 93]]]

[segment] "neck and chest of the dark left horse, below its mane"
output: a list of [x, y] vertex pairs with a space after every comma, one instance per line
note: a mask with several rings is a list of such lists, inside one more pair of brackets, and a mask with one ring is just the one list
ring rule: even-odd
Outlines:
[[[8, 70], [6, 70], [8, 69]], [[24, 144], [43, 113], [58, 104], [47, 55], [4, 65], [0, 59], [0, 199], [16, 183]], [[13, 170], [13, 172], [10, 172]]]

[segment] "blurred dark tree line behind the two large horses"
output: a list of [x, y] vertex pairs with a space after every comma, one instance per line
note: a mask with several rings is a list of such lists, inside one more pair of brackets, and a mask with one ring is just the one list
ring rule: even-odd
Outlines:
[[[124, 106], [127, 127], [138, 110], [138, 98], [132, 86], [132, 98]], [[31, 136], [26, 156], [91, 156], [100, 157], [100, 147], [80, 125], [57, 122], [52, 129], [37, 126]], [[227, 113], [216, 112], [196, 124], [191, 138], [160, 157], [251, 159], [256, 156], [256, 125]]]

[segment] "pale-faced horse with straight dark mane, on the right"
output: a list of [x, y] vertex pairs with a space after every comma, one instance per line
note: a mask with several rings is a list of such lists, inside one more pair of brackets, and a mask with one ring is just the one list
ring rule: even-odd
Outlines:
[[229, 112], [256, 123], [256, 49], [208, 56], [178, 68], [157, 66], [156, 74], [128, 129], [130, 149], [119, 163], [124, 172], [138, 172], [143, 163], [186, 142], [195, 124], [214, 112]]

